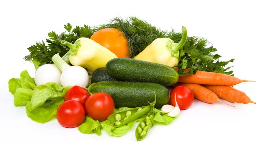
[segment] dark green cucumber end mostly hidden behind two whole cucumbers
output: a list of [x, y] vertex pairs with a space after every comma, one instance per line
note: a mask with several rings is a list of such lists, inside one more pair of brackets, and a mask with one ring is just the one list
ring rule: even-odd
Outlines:
[[106, 68], [97, 68], [93, 71], [91, 77], [91, 83], [97, 83], [100, 81], [118, 81], [113, 76], [111, 76]]

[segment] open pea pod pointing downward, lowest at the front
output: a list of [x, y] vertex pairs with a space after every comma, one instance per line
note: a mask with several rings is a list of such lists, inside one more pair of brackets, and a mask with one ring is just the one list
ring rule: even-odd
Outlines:
[[141, 141], [145, 136], [147, 136], [148, 130], [153, 126], [152, 121], [153, 121], [154, 115], [155, 115], [155, 113], [148, 114], [138, 124], [136, 131], [135, 131], [135, 137], [136, 137], [137, 141]]

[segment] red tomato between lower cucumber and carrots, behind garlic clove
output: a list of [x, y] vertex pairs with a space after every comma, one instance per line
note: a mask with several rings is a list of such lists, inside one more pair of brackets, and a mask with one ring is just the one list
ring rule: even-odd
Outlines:
[[194, 101], [194, 94], [192, 91], [185, 86], [177, 86], [173, 88], [170, 93], [170, 103], [172, 106], [175, 106], [175, 93], [176, 101], [181, 110], [185, 110], [191, 106]]

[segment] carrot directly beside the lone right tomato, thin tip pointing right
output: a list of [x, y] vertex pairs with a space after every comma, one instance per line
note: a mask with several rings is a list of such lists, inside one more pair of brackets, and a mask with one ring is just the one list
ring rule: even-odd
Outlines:
[[[177, 85], [182, 85], [189, 88], [194, 93], [194, 98], [196, 98], [199, 101], [210, 103], [210, 104], [217, 103], [217, 102], [225, 103], [221, 101], [215, 93], [213, 93], [207, 88], [204, 88], [199, 84], [178, 83]], [[225, 104], [229, 105], [228, 103], [225, 103]], [[232, 106], [232, 105], [229, 105], [229, 106]]]

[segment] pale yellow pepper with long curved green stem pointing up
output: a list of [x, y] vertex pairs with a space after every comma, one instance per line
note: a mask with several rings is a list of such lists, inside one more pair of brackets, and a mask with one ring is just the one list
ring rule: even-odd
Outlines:
[[174, 43], [170, 38], [157, 38], [147, 46], [134, 59], [160, 63], [168, 66], [176, 66], [179, 62], [179, 50], [186, 43], [187, 30], [182, 27], [182, 38], [180, 42]]

